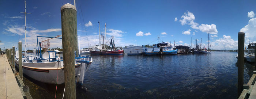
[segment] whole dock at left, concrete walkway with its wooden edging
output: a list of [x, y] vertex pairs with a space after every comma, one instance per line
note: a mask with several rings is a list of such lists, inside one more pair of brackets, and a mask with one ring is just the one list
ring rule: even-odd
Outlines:
[[10, 63], [5, 54], [0, 56], [0, 99], [32, 99], [29, 88], [23, 84]]

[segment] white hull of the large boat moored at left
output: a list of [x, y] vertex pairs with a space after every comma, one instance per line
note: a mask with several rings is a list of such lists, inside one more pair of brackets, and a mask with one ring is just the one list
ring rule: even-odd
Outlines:
[[[19, 61], [15, 59], [17, 65]], [[58, 65], [60, 64], [59, 68]], [[63, 84], [64, 83], [64, 67], [63, 61], [61, 62], [42, 62], [42, 63], [29, 63], [22, 62], [23, 74], [30, 78], [47, 84]], [[81, 63], [75, 64], [75, 75], [79, 73]], [[85, 72], [88, 70], [90, 64], [86, 65]]]

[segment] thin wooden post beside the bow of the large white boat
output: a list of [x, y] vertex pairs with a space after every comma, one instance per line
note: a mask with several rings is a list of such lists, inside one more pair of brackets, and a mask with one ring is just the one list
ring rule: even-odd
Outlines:
[[19, 41], [19, 77], [23, 80], [23, 72], [22, 72], [22, 42]]

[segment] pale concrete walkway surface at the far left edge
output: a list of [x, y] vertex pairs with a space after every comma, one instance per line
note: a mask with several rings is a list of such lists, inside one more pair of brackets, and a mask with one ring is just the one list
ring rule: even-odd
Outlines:
[[6, 55], [0, 56], [0, 99], [23, 99]]

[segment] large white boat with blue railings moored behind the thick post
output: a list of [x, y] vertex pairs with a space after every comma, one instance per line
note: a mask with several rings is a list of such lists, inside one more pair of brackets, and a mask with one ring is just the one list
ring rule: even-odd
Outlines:
[[[25, 18], [26, 18], [26, 1], [25, 1]], [[44, 43], [49, 42], [50, 39], [61, 39], [57, 37], [43, 37], [49, 38], [39, 42], [37, 36], [37, 49], [36, 55], [25, 55], [22, 56], [22, 71], [23, 74], [30, 78], [48, 84], [63, 84], [64, 83], [64, 63], [63, 58], [56, 55], [56, 51], [46, 51], [42, 54], [41, 48], [45, 48]], [[25, 42], [26, 42], [26, 19], [25, 19]], [[49, 48], [50, 43], [47, 43]], [[26, 50], [26, 47], [25, 47]], [[15, 63], [19, 65], [19, 51], [15, 52]], [[75, 77], [76, 83], [83, 84], [84, 74], [88, 70], [93, 59], [90, 56], [75, 57]]]

